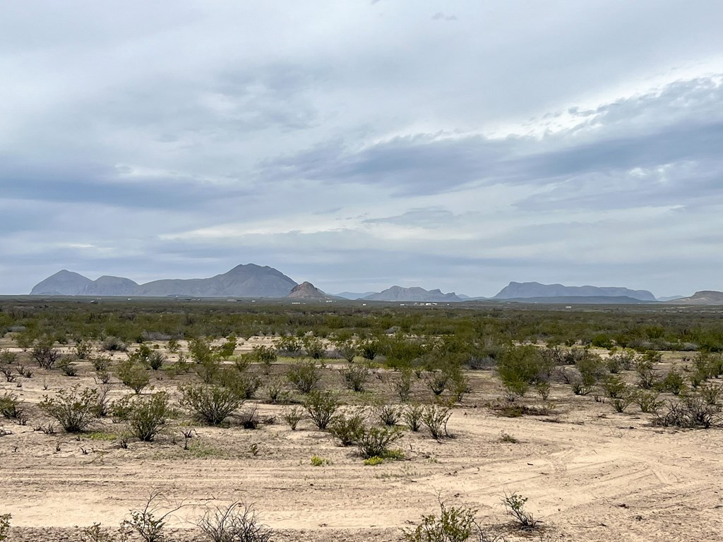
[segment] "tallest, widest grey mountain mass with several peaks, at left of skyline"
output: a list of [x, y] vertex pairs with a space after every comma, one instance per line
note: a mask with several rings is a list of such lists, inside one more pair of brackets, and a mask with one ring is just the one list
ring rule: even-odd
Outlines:
[[66, 270], [41, 281], [31, 296], [285, 297], [296, 282], [273, 267], [237, 265], [211, 278], [166, 279], [137, 284], [123, 277], [90, 280]]

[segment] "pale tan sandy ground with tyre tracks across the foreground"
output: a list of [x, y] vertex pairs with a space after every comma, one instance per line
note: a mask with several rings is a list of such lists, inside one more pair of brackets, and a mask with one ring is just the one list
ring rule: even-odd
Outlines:
[[[450, 419], [455, 438], [436, 442], [407, 432], [399, 444], [406, 460], [372, 467], [309, 421], [299, 431], [281, 421], [255, 431], [198, 426], [189, 449], [172, 426], [158, 442], [132, 441], [127, 449], [93, 434], [46, 435], [33, 431], [41, 421], [33, 403], [69, 382], [93, 380], [89, 373], [69, 379], [36, 370], [22, 388], [0, 384], [0, 393], [17, 392], [37, 414], [27, 426], [2, 423], [12, 434], [0, 437], [0, 513], [12, 514], [10, 541], [79, 540], [75, 526], [117, 526], [156, 490], [188, 504], [171, 520], [172, 540], [203, 540], [189, 523], [203, 507], [242, 500], [278, 531], [278, 541], [392, 541], [435, 512], [439, 497], [474, 507], [484, 525], [505, 530], [509, 518], [500, 502], [517, 492], [529, 497], [527, 508], [546, 528], [510, 533], [511, 540], [721, 539], [721, 429], [660, 429], [635, 405], [615, 413], [561, 384], [552, 389], [555, 415], [500, 418], [484, 407], [500, 395], [490, 374], [471, 378], [474, 392]], [[260, 405], [260, 413], [282, 408]], [[95, 429], [120, 431], [110, 421]], [[520, 442], [501, 442], [503, 433]], [[313, 467], [312, 455], [330, 465]]]

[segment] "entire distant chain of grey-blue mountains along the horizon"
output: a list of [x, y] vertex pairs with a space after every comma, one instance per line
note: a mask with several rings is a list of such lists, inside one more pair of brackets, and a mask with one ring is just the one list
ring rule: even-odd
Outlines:
[[504, 301], [544, 304], [640, 304], [723, 305], [723, 293], [699, 291], [693, 296], [656, 299], [647, 290], [630, 290], [613, 286], [565, 286], [562, 284], [511, 282], [492, 298], [470, 298], [454, 292], [424, 288], [392, 286], [381, 292], [343, 292], [327, 294], [311, 283], [298, 284], [273, 267], [241, 264], [210, 278], [165, 279], [138, 284], [129, 278], [103, 275], [90, 280], [76, 272], [61, 270], [40, 281], [30, 291], [32, 296], [123, 296], [123, 297], [194, 297], [194, 298], [291, 298], [299, 300], [461, 303], [465, 301]]

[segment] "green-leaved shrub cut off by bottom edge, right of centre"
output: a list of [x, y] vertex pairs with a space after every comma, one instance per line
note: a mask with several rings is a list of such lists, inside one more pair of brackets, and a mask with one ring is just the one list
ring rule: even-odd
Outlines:
[[415, 528], [406, 528], [403, 542], [494, 542], [497, 536], [489, 536], [475, 520], [476, 510], [468, 507], [448, 507], [440, 500], [439, 516], [422, 516]]

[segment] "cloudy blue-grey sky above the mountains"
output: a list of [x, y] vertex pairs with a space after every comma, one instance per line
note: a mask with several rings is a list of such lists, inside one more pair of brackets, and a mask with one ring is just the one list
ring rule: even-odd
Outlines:
[[0, 3], [0, 293], [723, 290], [723, 3]]

